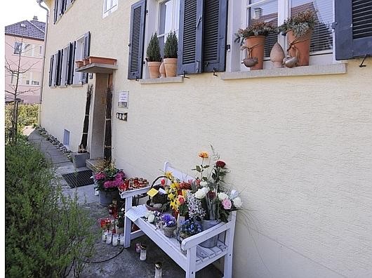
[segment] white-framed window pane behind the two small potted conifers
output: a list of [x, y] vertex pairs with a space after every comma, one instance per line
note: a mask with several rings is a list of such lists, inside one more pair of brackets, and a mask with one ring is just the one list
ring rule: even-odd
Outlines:
[[159, 4], [159, 30], [157, 32], [161, 55], [164, 55], [166, 36], [175, 31], [178, 37], [180, 23], [180, 0], [168, 0]]

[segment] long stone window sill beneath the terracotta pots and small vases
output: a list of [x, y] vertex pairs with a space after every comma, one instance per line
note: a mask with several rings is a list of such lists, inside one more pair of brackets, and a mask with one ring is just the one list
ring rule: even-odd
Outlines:
[[347, 64], [310, 65], [305, 67], [282, 67], [279, 69], [258, 69], [249, 72], [225, 72], [221, 74], [222, 80], [250, 79], [265, 77], [302, 77], [311, 75], [345, 74]]

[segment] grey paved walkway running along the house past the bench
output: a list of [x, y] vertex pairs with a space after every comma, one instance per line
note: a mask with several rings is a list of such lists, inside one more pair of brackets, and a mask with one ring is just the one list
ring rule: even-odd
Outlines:
[[[55, 168], [55, 183], [62, 186], [62, 190], [65, 194], [69, 194], [70, 196], [77, 194], [79, 203], [84, 206], [85, 209], [88, 209], [95, 223], [97, 223], [98, 218], [106, 218], [109, 216], [108, 209], [100, 206], [98, 203], [99, 199], [98, 196], [94, 195], [93, 185], [71, 189], [62, 178], [62, 174], [84, 171], [87, 169], [86, 167], [75, 168], [74, 164], [72, 164], [57, 147], [52, 145], [33, 128], [25, 128], [24, 133], [28, 135], [29, 142], [35, 147], [38, 147], [41, 152], [44, 152], [46, 158], [51, 161], [51, 164]], [[123, 246], [112, 246], [102, 242], [98, 223], [92, 230], [96, 235], [96, 254], [94, 258], [91, 259], [93, 263], [89, 263], [86, 266], [80, 277], [150, 278], [154, 277], [154, 265], [158, 261], [163, 263], [163, 277], [185, 277], [185, 271], [174, 263], [174, 261], [148, 237], [142, 236], [135, 239], [130, 248], [122, 251]], [[147, 260], [145, 261], [139, 260], [139, 254], [135, 252], [134, 244], [137, 242], [146, 242], [147, 244]], [[108, 260], [104, 263], [95, 263], [112, 258], [119, 252], [121, 252], [120, 255], [112, 260]], [[222, 274], [213, 267], [213, 265], [209, 265], [197, 272], [196, 277], [218, 278], [222, 277]]]

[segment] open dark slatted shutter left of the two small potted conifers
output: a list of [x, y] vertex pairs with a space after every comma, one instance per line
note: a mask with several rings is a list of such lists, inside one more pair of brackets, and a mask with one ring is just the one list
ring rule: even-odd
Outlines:
[[129, 37], [128, 79], [142, 79], [143, 43], [145, 41], [146, 0], [131, 7], [131, 35]]

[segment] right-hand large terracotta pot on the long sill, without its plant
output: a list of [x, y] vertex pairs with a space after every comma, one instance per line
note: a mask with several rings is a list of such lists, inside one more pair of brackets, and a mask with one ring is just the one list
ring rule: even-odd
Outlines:
[[302, 37], [295, 37], [293, 31], [287, 32], [289, 55], [298, 58], [298, 66], [309, 65], [310, 58], [310, 41], [312, 37], [312, 30], [307, 31]]

